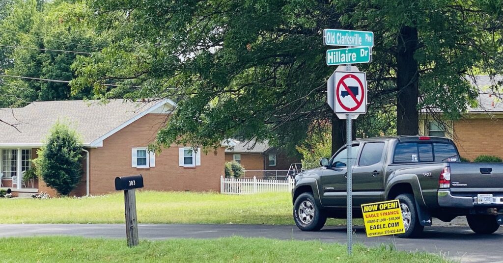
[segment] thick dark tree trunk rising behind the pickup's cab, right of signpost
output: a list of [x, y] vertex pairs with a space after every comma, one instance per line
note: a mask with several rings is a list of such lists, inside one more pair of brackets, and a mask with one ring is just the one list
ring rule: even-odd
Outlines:
[[398, 36], [396, 54], [396, 133], [416, 135], [419, 131], [419, 112], [417, 110], [419, 71], [414, 52], [417, 49], [417, 29], [402, 27]]

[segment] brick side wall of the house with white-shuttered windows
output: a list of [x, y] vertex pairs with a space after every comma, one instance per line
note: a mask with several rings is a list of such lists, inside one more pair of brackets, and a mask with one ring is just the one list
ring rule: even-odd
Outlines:
[[131, 167], [131, 148], [148, 146], [165, 121], [166, 115], [147, 114], [105, 139], [103, 147], [91, 149], [91, 194], [115, 192], [115, 177], [140, 173], [145, 190], [220, 191], [225, 161], [223, 147], [207, 154], [202, 152], [201, 166], [180, 167], [179, 147], [172, 145], [156, 154], [155, 167]]

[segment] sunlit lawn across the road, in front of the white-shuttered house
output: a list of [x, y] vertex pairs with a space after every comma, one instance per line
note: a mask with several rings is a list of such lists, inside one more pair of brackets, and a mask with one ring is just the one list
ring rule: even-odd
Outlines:
[[[291, 195], [265, 193], [230, 196], [216, 193], [136, 194], [140, 223], [294, 224]], [[122, 192], [90, 198], [0, 199], [0, 223], [123, 223]], [[345, 224], [345, 219], [327, 224]], [[355, 223], [362, 224], [360, 219]]]

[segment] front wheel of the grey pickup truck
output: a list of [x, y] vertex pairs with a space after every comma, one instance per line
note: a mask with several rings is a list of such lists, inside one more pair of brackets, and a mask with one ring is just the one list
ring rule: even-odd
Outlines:
[[302, 231], [318, 231], [325, 225], [326, 214], [316, 205], [311, 193], [302, 193], [293, 205], [293, 219]]

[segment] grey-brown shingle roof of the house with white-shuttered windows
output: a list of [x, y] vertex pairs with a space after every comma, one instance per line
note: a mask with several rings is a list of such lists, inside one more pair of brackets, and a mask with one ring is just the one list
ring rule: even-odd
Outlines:
[[[34, 102], [24, 108], [0, 109], [0, 145], [39, 145], [57, 120], [68, 123], [84, 145], [150, 109], [158, 102], [110, 100]], [[13, 128], [8, 124], [15, 125]], [[19, 130], [19, 131], [18, 131]]]

